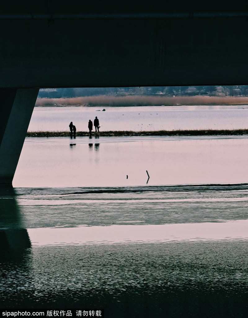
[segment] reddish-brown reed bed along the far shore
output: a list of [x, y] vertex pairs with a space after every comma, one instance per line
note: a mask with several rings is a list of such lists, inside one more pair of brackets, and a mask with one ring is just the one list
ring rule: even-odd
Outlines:
[[248, 105], [248, 97], [234, 96], [84, 96], [74, 98], [37, 98], [35, 106], [177, 106]]

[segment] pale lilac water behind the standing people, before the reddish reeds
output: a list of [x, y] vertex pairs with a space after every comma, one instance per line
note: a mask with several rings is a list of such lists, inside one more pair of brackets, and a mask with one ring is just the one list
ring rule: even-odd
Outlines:
[[[248, 128], [248, 106], [35, 107], [28, 131], [88, 131], [97, 116], [100, 131]], [[100, 110], [100, 111], [98, 111]]]

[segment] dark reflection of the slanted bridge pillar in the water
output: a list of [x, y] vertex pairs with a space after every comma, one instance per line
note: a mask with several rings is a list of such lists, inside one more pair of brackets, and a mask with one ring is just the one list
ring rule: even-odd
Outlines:
[[[25, 287], [30, 286], [31, 289], [33, 286], [30, 247], [30, 238], [23, 226], [15, 192], [12, 187], [0, 185], [0, 302], [2, 308], [7, 308], [11, 299], [15, 299], [14, 302], [25, 300]], [[35, 291], [32, 291], [32, 294], [34, 293]], [[26, 307], [29, 305], [28, 299]]]

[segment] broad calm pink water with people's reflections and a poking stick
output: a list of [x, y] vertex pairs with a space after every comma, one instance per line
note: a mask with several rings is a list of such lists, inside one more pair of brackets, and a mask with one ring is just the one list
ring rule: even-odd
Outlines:
[[[15, 187], [248, 181], [248, 138], [26, 138]], [[128, 178], [127, 178], [128, 176]]]

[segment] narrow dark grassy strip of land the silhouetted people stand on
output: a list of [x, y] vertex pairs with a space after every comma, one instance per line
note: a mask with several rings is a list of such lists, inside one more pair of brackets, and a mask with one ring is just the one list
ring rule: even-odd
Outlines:
[[[158, 130], [158, 131], [101, 131], [92, 132], [92, 136], [233, 136], [233, 135], [248, 135], [248, 129], [234, 129], [234, 130]], [[26, 137], [68, 137], [68, 131], [36, 131], [27, 132]], [[78, 131], [77, 137], [89, 136], [89, 132]]]

